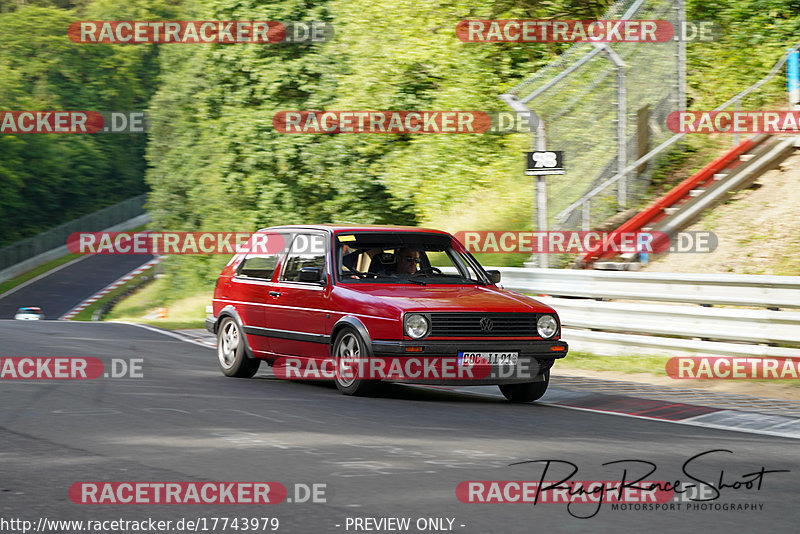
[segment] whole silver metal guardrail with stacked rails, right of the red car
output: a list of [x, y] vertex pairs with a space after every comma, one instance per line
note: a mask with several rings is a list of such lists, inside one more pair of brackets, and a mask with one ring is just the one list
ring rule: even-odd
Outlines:
[[578, 351], [800, 358], [800, 311], [775, 309], [800, 308], [800, 276], [499, 270], [503, 287], [558, 312], [562, 337]]

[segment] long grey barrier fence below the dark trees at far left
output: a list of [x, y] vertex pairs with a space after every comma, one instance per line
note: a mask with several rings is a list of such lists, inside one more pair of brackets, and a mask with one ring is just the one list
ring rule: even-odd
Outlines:
[[129, 198], [119, 204], [51, 228], [37, 236], [0, 248], [0, 270], [66, 245], [67, 237], [73, 232], [96, 232], [142, 215], [145, 212], [146, 200], [146, 194]]

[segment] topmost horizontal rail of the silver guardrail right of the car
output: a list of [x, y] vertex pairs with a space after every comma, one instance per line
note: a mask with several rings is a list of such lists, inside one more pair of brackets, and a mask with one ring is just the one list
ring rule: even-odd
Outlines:
[[[800, 276], [502, 267], [507, 289], [548, 296], [800, 308]], [[698, 336], [700, 337], [700, 336]]]

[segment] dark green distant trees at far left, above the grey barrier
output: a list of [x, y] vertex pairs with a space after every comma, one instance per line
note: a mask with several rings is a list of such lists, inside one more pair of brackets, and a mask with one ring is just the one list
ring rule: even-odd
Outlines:
[[[0, 6], [0, 109], [147, 107], [159, 72], [155, 47], [78, 44], [67, 37], [69, 24], [81, 17], [114, 18], [119, 2], [98, 1], [80, 11], [66, 2], [37, 4]], [[132, 17], [171, 13], [160, 6], [139, 1], [126, 9]], [[0, 246], [144, 192], [146, 141], [130, 134], [0, 136]]]

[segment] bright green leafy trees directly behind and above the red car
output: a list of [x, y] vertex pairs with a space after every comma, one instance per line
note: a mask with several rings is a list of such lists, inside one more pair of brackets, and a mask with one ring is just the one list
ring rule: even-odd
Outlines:
[[[599, 16], [605, 5], [580, 13]], [[486, 198], [510, 197], [529, 209], [519, 186], [526, 191], [530, 184], [519, 176], [518, 162], [527, 136], [288, 135], [272, 128], [272, 117], [312, 109], [506, 110], [497, 95], [563, 45], [462, 43], [456, 24], [469, 17], [578, 13], [572, 3], [245, 0], [187, 9], [202, 19], [322, 20], [334, 25], [336, 37], [314, 45], [163, 49], [165, 75], [151, 102], [147, 153], [154, 225], [447, 227], [453, 213], [471, 216], [483, 201], [506, 226], [520, 221], [519, 213]], [[221, 261], [173, 259], [167, 270], [174, 288], [190, 291], [210, 283]]]

